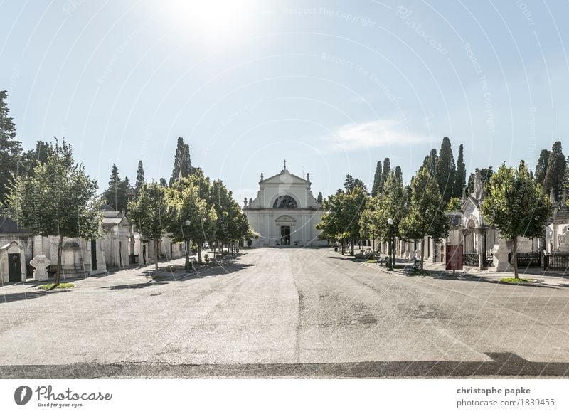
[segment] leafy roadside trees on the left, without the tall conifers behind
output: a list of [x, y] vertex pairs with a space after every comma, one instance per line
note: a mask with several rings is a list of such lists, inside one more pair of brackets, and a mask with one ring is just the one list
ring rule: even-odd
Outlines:
[[[73, 160], [73, 149], [67, 142], [56, 140], [48, 148], [46, 161], [36, 161], [30, 174], [12, 176], [4, 212], [35, 235], [58, 235], [58, 285], [63, 238], [100, 237], [101, 206], [110, 197], [97, 195], [97, 181], [87, 176], [83, 164]], [[195, 243], [199, 262], [203, 243], [216, 241], [223, 248], [255, 236], [232, 192], [220, 180], [211, 183], [201, 169], [194, 169], [169, 188], [155, 181], [143, 182], [137, 191], [133, 189], [127, 209], [127, 217], [142, 237], [154, 240], [156, 258], [164, 233], [171, 233], [176, 243]]]

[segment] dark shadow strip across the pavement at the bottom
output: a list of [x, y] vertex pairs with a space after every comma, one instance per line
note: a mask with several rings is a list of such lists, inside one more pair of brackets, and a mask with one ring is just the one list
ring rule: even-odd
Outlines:
[[11, 378], [468, 378], [471, 376], [567, 377], [567, 362], [531, 362], [516, 354], [489, 353], [492, 361], [373, 361], [346, 363], [245, 363], [169, 365], [144, 363], [77, 363], [0, 366]]

